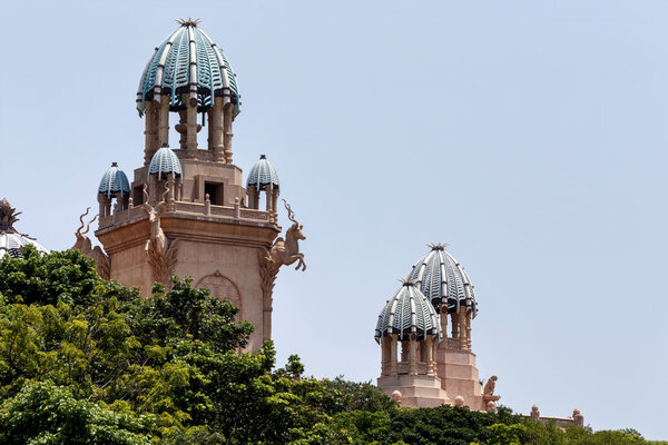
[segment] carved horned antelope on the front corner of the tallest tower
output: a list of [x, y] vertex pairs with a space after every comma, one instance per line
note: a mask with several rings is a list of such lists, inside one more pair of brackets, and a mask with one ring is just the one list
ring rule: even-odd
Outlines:
[[[164, 194], [165, 195], [165, 194]], [[146, 240], [144, 250], [148, 256], [148, 264], [153, 269], [154, 280], [169, 287], [169, 276], [174, 271], [178, 254], [178, 238], [168, 239], [165, 231], [160, 227], [160, 214], [165, 210], [165, 200], [160, 201], [156, 207], [149, 204], [148, 191], [144, 185], [145, 204], [141, 206], [148, 215], [150, 224], [150, 238]]]

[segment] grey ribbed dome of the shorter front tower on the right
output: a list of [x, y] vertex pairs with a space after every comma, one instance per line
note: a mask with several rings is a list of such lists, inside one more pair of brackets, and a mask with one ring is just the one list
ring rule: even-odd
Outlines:
[[425, 335], [441, 338], [436, 310], [413, 281], [405, 281], [379, 315], [376, 342], [385, 334], [399, 334], [400, 340], [409, 339], [410, 334], [416, 334], [418, 339]]

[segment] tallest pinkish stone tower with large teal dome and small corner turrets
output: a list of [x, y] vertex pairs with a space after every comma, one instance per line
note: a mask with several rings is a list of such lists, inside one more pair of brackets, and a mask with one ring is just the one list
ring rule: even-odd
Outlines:
[[[246, 195], [232, 151], [240, 106], [236, 77], [198, 22], [179, 20], [141, 75], [144, 165], [131, 182], [116, 164], [105, 174], [95, 235], [108, 255], [108, 278], [150, 296], [155, 281], [190, 276], [194, 286], [240, 308], [239, 318], [255, 325], [247, 348], [257, 350], [271, 338], [277, 251], [285, 253], [274, 245], [278, 178], [263, 156]], [[170, 126], [179, 135], [171, 142]]]

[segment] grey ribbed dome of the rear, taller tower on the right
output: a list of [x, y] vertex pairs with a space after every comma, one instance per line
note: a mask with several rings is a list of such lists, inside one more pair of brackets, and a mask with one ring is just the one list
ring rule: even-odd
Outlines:
[[445, 246], [431, 245], [432, 250], [413, 266], [407, 279], [415, 283], [434, 307], [446, 304], [449, 313], [456, 313], [460, 305], [465, 305], [475, 317], [478, 304], [473, 286], [464, 268], [444, 250]]

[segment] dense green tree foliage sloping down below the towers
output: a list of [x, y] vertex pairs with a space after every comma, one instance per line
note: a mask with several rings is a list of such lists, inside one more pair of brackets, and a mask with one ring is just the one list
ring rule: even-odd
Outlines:
[[174, 278], [153, 298], [77, 250], [0, 260], [0, 445], [645, 444], [497, 414], [395, 406], [371, 383], [274, 369], [227, 301]]

